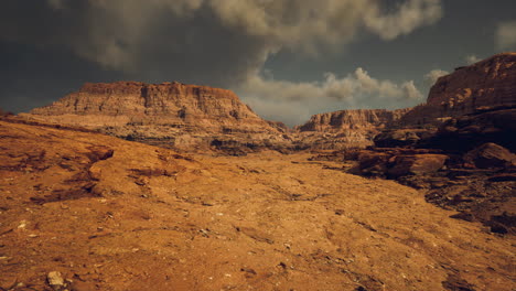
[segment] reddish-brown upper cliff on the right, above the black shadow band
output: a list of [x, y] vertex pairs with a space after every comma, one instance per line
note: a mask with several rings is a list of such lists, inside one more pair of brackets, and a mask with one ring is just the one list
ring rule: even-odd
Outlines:
[[401, 123], [434, 123], [443, 118], [514, 106], [516, 53], [504, 53], [439, 78], [427, 103], [405, 115]]

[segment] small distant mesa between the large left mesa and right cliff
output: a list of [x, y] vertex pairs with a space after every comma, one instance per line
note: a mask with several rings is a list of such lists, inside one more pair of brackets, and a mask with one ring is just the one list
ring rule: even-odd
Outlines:
[[314, 115], [295, 127], [299, 148], [337, 150], [373, 144], [379, 130], [395, 125], [410, 108], [357, 109]]

